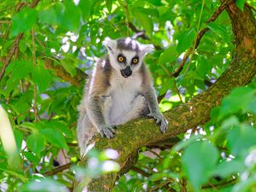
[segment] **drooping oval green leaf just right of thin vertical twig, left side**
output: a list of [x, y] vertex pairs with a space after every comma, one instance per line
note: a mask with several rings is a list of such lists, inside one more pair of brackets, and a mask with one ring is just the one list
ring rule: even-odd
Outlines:
[[52, 77], [47, 69], [37, 66], [33, 68], [32, 79], [38, 85], [38, 90], [44, 92], [49, 87]]

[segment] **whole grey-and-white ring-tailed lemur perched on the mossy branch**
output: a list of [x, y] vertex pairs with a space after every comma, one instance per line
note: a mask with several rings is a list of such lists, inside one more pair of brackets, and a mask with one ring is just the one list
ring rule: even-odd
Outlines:
[[112, 138], [114, 125], [131, 119], [148, 115], [160, 124], [162, 133], [168, 125], [160, 113], [148, 67], [143, 64], [152, 45], [139, 44], [131, 38], [106, 38], [103, 44], [108, 55], [96, 63], [79, 105], [77, 134], [81, 155], [97, 132]]

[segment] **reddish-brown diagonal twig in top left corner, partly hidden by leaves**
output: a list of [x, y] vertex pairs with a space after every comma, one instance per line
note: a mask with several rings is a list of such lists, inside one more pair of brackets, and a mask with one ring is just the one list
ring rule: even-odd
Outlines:
[[[38, 5], [39, 3], [39, 0], [34, 0], [31, 4], [30, 4], [30, 7], [31, 8], [34, 8]], [[21, 4], [21, 5], [20, 5]], [[20, 3], [19, 4], [19, 7], [17, 7], [17, 10], [19, 11], [21, 8], [23, 8], [25, 6], [24, 3]], [[20, 44], [20, 40], [21, 38], [23, 37], [24, 33], [20, 33], [17, 38], [15, 38], [15, 43], [12, 47], [12, 49], [9, 51], [9, 55], [6, 57], [5, 61], [3, 62], [3, 68], [1, 70], [1, 73], [0, 73], [0, 81], [1, 79], [3, 79], [3, 74], [5, 72], [5, 69], [6, 67], [9, 66], [9, 62], [11, 61], [13, 55], [15, 54], [15, 50], [18, 48], [19, 44]]]

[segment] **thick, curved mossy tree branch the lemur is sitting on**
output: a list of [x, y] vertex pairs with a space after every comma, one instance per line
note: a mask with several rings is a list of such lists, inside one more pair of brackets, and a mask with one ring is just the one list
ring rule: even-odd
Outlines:
[[[118, 151], [117, 162], [121, 170], [91, 180], [88, 186], [89, 191], [111, 191], [115, 181], [136, 161], [133, 157], [139, 148], [176, 137], [191, 128], [205, 124], [210, 119], [211, 109], [218, 106], [230, 90], [245, 85], [253, 79], [256, 73], [256, 21], [247, 6], [242, 12], [236, 7], [234, 0], [228, 1], [226, 10], [230, 15], [236, 37], [236, 50], [230, 67], [208, 90], [164, 113], [169, 121], [166, 134], [160, 133], [154, 120], [136, 119], [121, 125], [113, 139], [102, 138], [99, 135], [91, 139], [90, 143], [95, 143], [95, 148], [98, 150], [113, 148]], [[82, 189], [84, 189], [83, 181], [77, 183], [75, 191], [82, 191]]]

